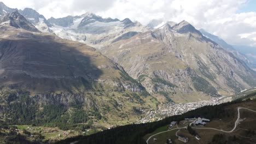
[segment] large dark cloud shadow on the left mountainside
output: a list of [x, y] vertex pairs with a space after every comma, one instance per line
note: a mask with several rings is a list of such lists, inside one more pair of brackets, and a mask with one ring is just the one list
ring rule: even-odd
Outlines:
[[[53, 35], [0, 39], [0, 85], [35, 92], [90, 89], [102, 70], [91, 62], [100, 53], [85, 44]], [[16, 89], [16, 88], [15, 88]]]

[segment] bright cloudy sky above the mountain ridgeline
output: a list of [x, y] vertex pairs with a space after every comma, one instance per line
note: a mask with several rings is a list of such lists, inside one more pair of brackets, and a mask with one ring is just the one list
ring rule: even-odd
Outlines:
[[[1, 0], [0, 0], [1, 1]], [[143, 25], [152, 19], [186, 20], [232, 45], [256, 47], [256, 0], [2, 0], [10, 8], [37, 10], [46, 19], [81, 15], [128, 17]]]

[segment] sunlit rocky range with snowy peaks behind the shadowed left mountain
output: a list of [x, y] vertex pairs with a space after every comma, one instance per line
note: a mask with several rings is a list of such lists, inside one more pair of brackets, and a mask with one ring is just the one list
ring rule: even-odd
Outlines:
[[46, 20], [32, 9], [20, 12], [37, 28], [44, 23], [44, 32], [94, 46], [162, 101], [197, 101], [255, 86], [245, 56], [185, 21], [152, 20], [142, 26], [92, 13]]

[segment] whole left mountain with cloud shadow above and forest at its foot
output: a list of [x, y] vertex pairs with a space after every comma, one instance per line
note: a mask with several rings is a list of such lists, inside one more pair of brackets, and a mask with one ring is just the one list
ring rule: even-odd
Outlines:
[[94, 48], [41, 33], [18, 11], [0, 23], [0, 117], [9, 124], [124, 124], [158, 103]]

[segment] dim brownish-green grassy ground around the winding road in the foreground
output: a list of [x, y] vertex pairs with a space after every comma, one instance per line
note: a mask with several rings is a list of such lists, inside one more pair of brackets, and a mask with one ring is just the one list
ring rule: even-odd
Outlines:
[[[229, 107], [233, 111], [236, 111], [237, 107], [239, 107], [239, 106], [240, 107], [247, 107], [248, 109], [252, 109], [252, 110], [256, 110], [255, 104], [256, 104], [256, 101], [248, 101], [248, 102], [245, 102], [245, 103], [232, 104], [232, 105], [229, 105], [227, 107]], [[247, 136], [246, 131], [248, 131], [249, 129], [252, 129], [252, 130], [256, 129], [256, 125], [255, 125], [256, 113], [253, 113], [253, 112], [250, 112], [250, 111], [247, 111], [247, 110], [241, 110], [240, 115], [241, 115], [242, 119], [243, 118], [246, 118], [246, 119], [245, 119], [245, 121], [241, 122], [238, 125], [238, 127], [237, 127], [237, 129], [234, 133], [227, 134], [227, 133], [222, 133], [222, 132], [219, 132], [219, 131], [216, 131], [216, 130], [195, 129], [197, 131], [197, 133], [201, 136], [201, 140], [196, 140], [194, 136], [191, 136], [188, 133], [188, 131], [184, 130], [184, 129], [179, 131], [179, 134], [188, 136], [189, 137], [189, 143], [197, 143], [197, 141], [199, 143], [211, 142], [211, 140], [212, 140], [212, 138], [215, 134], [224, 134], [224, 135], [227, 135], [227, 136], [236, 136], [236, 137], [239, 137], [239, 138], [243, 139], [244, 137]], [[220, 119], [212, 119], [211, 122], [206, 125], [206, 127], [216, 128], [216, 129], [223, 129], [223, 130], [228, 131], [228, 130], [231, 130], [234, 127], [234, 123], [236, 121], [236, 118], [237, 118], [237, 112], [235, 113], [235, 116], [227, 117], [227, 118], [224, 118], [224, 119], [221, 119], [221, 120]], [[182, 122], [180, 122], [180, 123], [182, 123]], [[168, 127], [168, 125], [165, 125], [164, 127], [156, 129], [153, 133], [147, 134], [146, 136], [144, 136], [144, 140], [147, 140], [150, 135], [153, 135], [153, 134], [159, 133], [161, 131], [167, 130], [167, 127]], [[178, 127], [184, 127], [184, 125], [179, 124]], [[178, 139], [177, 139], [178, 137], [175, 136], [176, 131], [177, 130], [173, 130], [173, 131], [170, 131], [170, 132], [167, 132], [167, 133], [162, 133], [162, 134], [156, 135], [153, 138], [158, 139], [158, 141], [154, 142], [153, 140], [150, 140], [149, 143], [163, 143], [168, 138], [172, 138], [172, 140], [174, 140], [176, 143], [182, 143], [181, 141], [178, 141]], [[256, 138], [256, 135], [247, 136], [247, 137], [249, 137], [249, 138], [245, 138], [243, 140], [250, 143], [250, 142], [252, 142], [252, 139], [254, 139], [254, 137]]]

